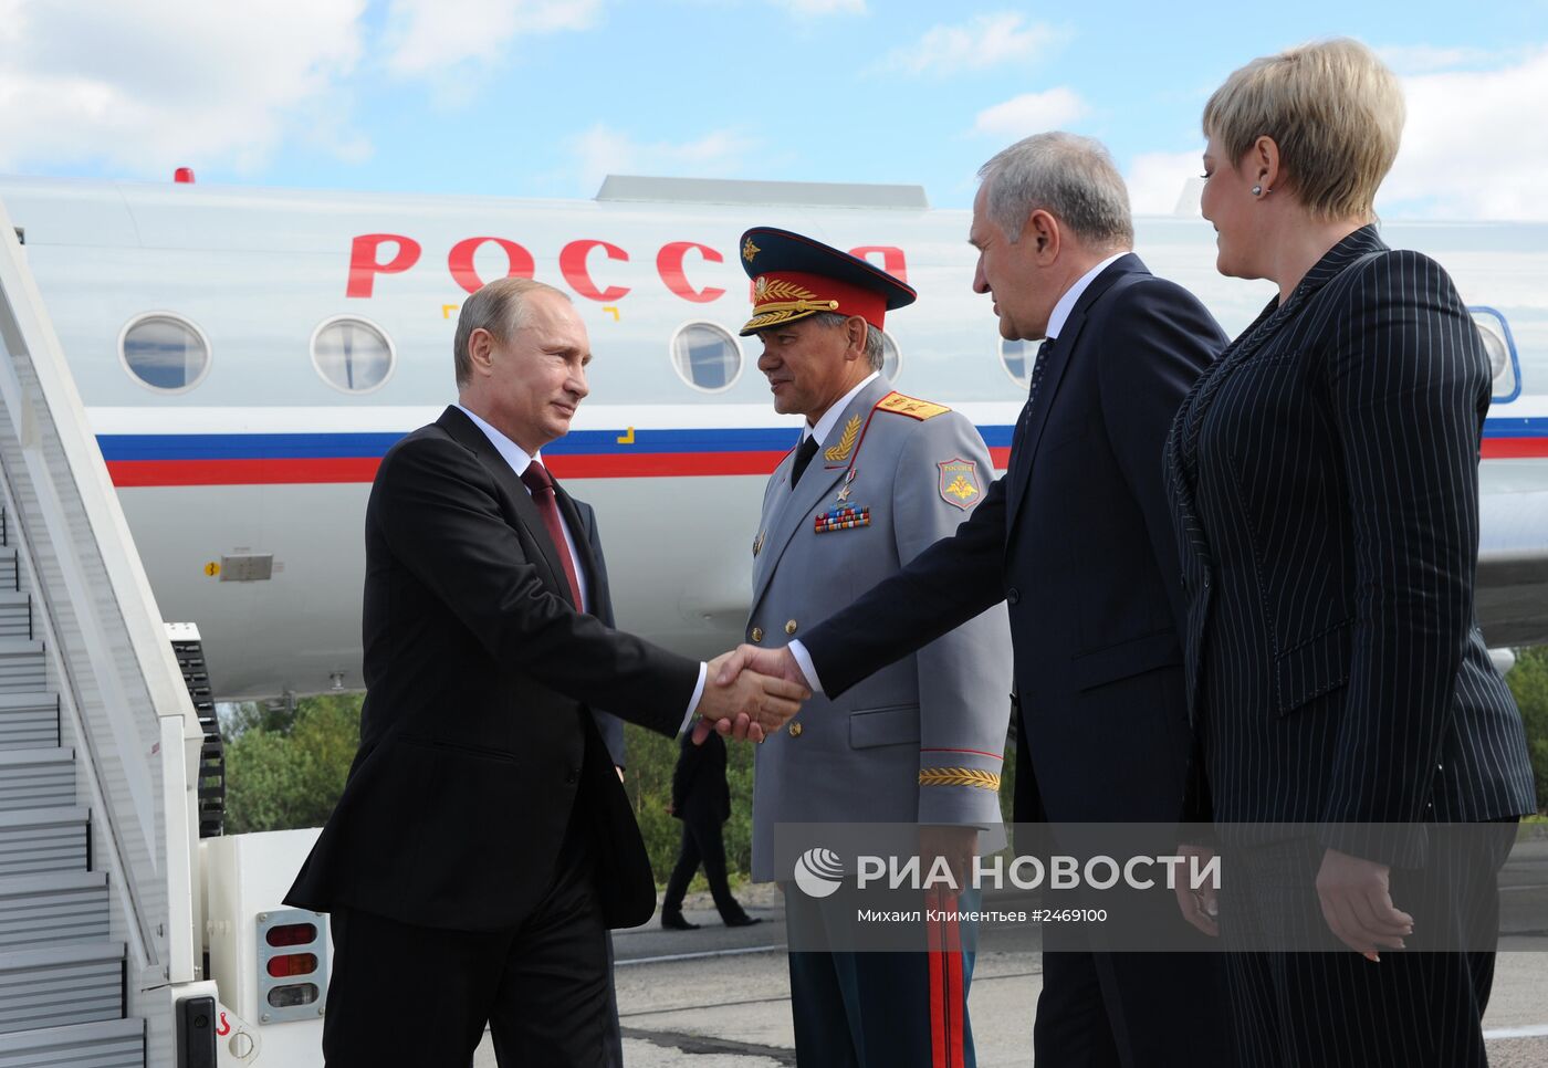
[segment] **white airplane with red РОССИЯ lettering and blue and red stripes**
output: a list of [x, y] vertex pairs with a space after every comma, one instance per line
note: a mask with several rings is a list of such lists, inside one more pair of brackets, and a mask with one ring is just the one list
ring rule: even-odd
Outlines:
[[[763, 481], [799, 421], [737, 337], [740, 234], [780, 226], [906, 279], [885, 373], [964, 412], [1003, 469], [1034, 347], [971, 293], [966, 211], [918, 186], [610, 176], [590, 201], [0, 178], [166, 619], [195, 622], [221, 700], [361, 679], [362, 517], [401, 435], [455, 399], [452, 334], [481, 282], [573, 296], [591, 395], [545, 449], [591, 501], [619, 625], [687, 655], [741, 638]], [[1197, 195], [1136, 252], [1228, 333], [1272, 296], [1220, 277]], [[1548, 642], [1548, 224], [1399, 223], [1440, 260], [1494, 370], [1478, 611]], [[1533, 392], [1543, 390], [1543, 392]], [[1159, 458], [1158, 458], [1159, 463]]]

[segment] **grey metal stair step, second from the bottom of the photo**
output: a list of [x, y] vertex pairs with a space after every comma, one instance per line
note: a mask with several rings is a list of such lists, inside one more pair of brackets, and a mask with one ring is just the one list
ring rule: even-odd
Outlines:
[[124, 1015], [124, 943], [0, 952], [0, 1034]]

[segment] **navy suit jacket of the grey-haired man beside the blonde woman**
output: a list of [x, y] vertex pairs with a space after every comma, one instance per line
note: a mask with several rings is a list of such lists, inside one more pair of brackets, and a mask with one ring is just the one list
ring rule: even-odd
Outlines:
[[[1181, 590], [1161, 452], [1224, 336], [1130, 254], [1076, 302], [1011, 467], [957, 529], [803, 642], [837, 693], [1005, 599], [1022, 715], [1015, 819], [1181, 813]], [[1099, 775], [1099, 777], [1098, 777]]]

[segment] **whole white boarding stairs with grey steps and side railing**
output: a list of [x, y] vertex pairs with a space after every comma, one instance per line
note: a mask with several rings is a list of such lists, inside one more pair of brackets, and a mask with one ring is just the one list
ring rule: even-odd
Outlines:
[[178, 1062], [203, 748], [0, 204], [0, 1068]]

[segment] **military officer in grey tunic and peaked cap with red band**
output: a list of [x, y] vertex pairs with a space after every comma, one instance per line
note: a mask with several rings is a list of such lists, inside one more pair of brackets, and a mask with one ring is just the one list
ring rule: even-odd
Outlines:
[[[774, 409], [807, 416], [800, 444], [769, 477], [752, 542], [746, 639], [777, 647], [955, 531], [994, 469], [968, 418], [881, 375], [884, 314], [912, 303], [912, 288], [786, 231], [751, 229], [740, 249], [754, 282], [741, 334], [763, 344]], [[814, 697], [757, 749], [754, 879], [793, 875], [774, 870], [776, 823], [916, 822], [958, 864], [980, 845], [997, 848], [1009, 681], [1009, 630], [995, 607], [839, 700]], [[797, 910], [820, 907], [786, 885], [793, 924]], [[954, 938], [941, 944], [793, 952], [799, 1065], [972, 1065], [972, 958]]]

